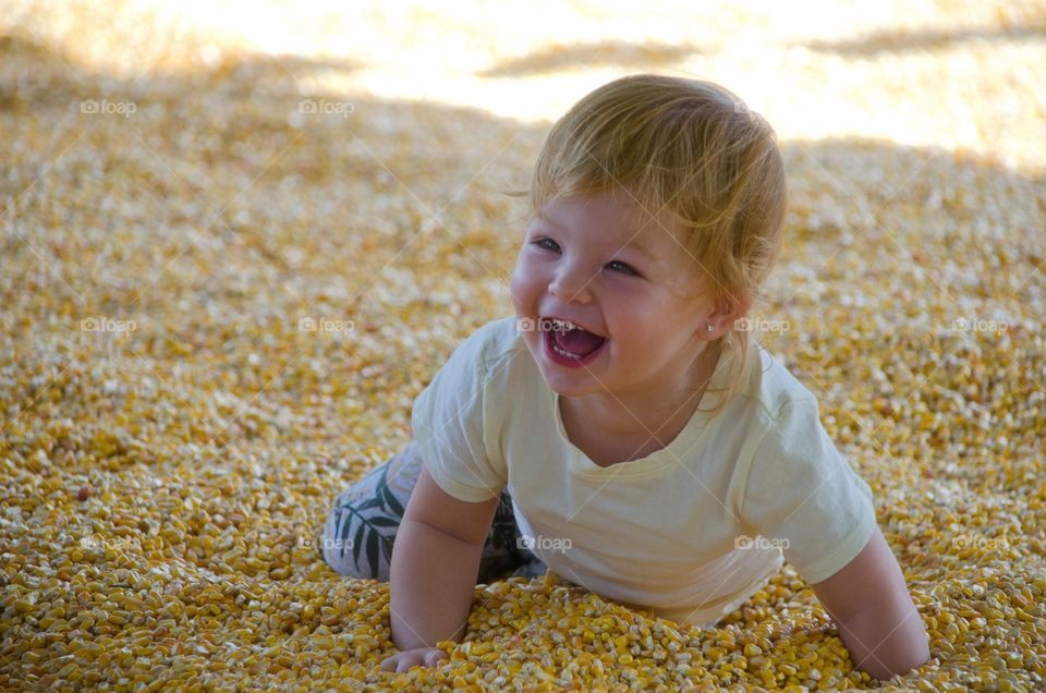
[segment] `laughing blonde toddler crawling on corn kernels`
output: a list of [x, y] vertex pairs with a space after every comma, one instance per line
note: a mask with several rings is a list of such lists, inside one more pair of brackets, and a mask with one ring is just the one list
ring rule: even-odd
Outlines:
[[769, 125], [708, 82], [623, 77], [555, 124], [530, 203], [514, 315], [459, 344], [413, 442], [327, 520], [336, 571], [391, 581], [382, 669], [445, 657], [477, 581], [547, 567], [710, 627], [783, 558], [859, 667], [925, 661], [869, 487], [747, 329], [787, 206]]

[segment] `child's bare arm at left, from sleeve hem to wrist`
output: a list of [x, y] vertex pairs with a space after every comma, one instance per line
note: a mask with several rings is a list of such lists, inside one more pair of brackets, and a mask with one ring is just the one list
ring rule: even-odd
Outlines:
[[392, 545], [392, 640], [401, 651], [464, 636], [479, 557], [499, 498], [465, 502], [422, 469]]

